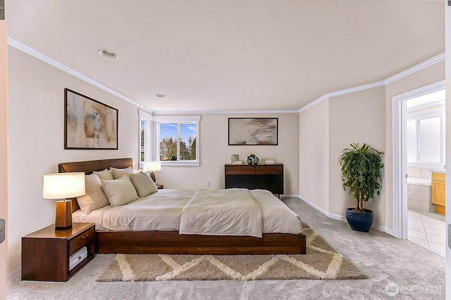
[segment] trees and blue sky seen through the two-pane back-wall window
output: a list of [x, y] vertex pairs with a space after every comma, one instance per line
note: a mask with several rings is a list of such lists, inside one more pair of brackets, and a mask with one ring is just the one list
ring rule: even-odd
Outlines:
[[160, 160], [196, 160], [196, 123], [160, 123]]

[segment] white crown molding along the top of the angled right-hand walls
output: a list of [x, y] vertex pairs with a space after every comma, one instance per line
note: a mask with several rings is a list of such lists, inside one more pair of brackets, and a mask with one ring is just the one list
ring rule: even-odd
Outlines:
[[320, 98], [312, 101], [311, 103], [299, 108], [298, 112], [303, 112], [304, 110], [307, 110], [310, 107], [312, 107], [318, 103], [321, 103], [321, 101], [326, 100], [327, 98], [330, 98], [330, 97], [345, 95], [347, 93], [355, 93], [357, 91], [364, 91], [366, 89], [374, 89], [379, 86], [386, 86], [387, 84], [391, 84], [394, 81], [397, 81], [397, 80], [407, 77], [411, 74], [414, 74], [415, 72], [423, 70], [426, 67], [430, 67], [431, 65], [440, 63], [440, 61], [442, 61], [442, 60], [445, 60], [445, 52], [440, 53], [438, 56], [434, 56], [433, 58], [429, 58], [428, 60], [425, 60], [423, 63], [419, 63], [418, 65], [409, 67], [409, 69], [399, 72], [399, 73], [393, 75], [392, 77], [388, 77], [387, 79], [384, 79], [382, 81], [376, 81], [376, 82], [373, 82], [372, 84], [364, 84], [362, 86], [355, 86], [350, 89], [343, 89], [340, 91], [333, 91], [331, 93], [326, 93], [323, 96], [321, 96]]

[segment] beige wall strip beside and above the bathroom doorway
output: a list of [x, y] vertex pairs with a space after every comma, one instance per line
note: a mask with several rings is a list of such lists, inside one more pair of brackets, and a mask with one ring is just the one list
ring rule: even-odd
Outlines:
[[397, 199], [397, 195], [393, 195], [392, 98], [401, 93], [419, 89], [422, 86], [427, 86], [443, 79], [445, 79], [445, 61], [426, 67], [385, 86], [385, 193], [387, 199], [385, 205], [385, 227], [390, 230], [393, 230], [393, 201], [401, 201]]

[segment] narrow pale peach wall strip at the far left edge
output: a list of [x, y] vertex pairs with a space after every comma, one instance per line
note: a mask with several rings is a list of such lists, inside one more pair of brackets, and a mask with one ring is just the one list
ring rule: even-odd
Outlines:
[[[6, 220], [8, 212], [7, 58], [6, 21], [0, 20], [0, 219]], [[0, 244], [0, 299], [6, 298], [7, 254], [8, 240], [5, 240]]]

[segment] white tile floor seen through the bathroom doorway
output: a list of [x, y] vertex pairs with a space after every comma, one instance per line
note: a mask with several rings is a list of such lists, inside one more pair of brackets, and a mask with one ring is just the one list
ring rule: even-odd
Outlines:
[[445, 257], [445, 216], [425, 211], [407, 211], [407, 240]]

